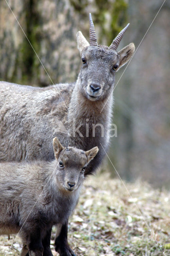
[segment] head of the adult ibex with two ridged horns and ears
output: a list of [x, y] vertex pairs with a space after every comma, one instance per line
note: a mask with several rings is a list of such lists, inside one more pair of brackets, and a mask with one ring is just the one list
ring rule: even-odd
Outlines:
[[131, 43], [117, 52], [129, 24], [116, 36], [109, 47], [98, 45], [91, 14], [89, 20], [90, 43], [81, 31], [77, 33], [78, 50], [83, 62], [79, 79], [84, 96], [94, 101], [102, 100], [110, 94], [114, 86], [115, 72], [132, 58], [135, 46]]

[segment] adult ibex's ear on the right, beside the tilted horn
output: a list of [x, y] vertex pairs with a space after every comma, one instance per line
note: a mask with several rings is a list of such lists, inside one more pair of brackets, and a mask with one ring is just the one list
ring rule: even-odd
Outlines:
[[118, 55], [120, 57], [120, 62], [119, 62], [118, 69], [120, 67], [124, 66], [124, 64], [126, 64], [126, 62], [128, 62], [128, 60], [130, 60], [132, 58], [132, 56], [134, 54], [134, 50], [135, 50], [134, 43], [130, 43], [118, 52]]

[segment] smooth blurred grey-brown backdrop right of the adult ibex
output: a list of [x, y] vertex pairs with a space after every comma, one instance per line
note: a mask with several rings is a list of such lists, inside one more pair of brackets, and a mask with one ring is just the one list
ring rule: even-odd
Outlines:
[[116, 168], [122, 178], [142, 176], [156, 186], [169, 187], [170, 2], [165, 2], [158, 13], [162, 3], [129, 2], [130, 28], [124, 46], [134, 41], [137, 48], [156, 18], [126, 71], [124, 67], [118, 74], [124, 72], [114, 90], [118, 138], [112, 140], [110, 158], [116, 154]]

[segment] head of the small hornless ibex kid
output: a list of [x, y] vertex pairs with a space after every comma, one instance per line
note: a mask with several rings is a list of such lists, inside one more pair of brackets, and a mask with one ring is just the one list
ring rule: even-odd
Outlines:
[[65, 148], [57, 137], [53, 139], [54, 155], [57, 160], [55, 180], [62, 191], [77, 190], [86, 176], [86, 166], [98, 153], [98, 147], [88, 151], [77, 148]]

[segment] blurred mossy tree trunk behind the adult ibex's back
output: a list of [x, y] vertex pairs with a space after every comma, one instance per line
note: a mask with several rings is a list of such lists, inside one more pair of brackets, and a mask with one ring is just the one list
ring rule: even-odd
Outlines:
[[110, 44], [124, 26], [127, 3], [125, 0], [11, 0], [10, 7], [28, 39], [6, 2], [0, 1], [0, 78], [46, 86], [76, 80], [80, 63], [76, 32], [81, 25], [88, 38], [89, 12], [99, 41], [107, 38]]

